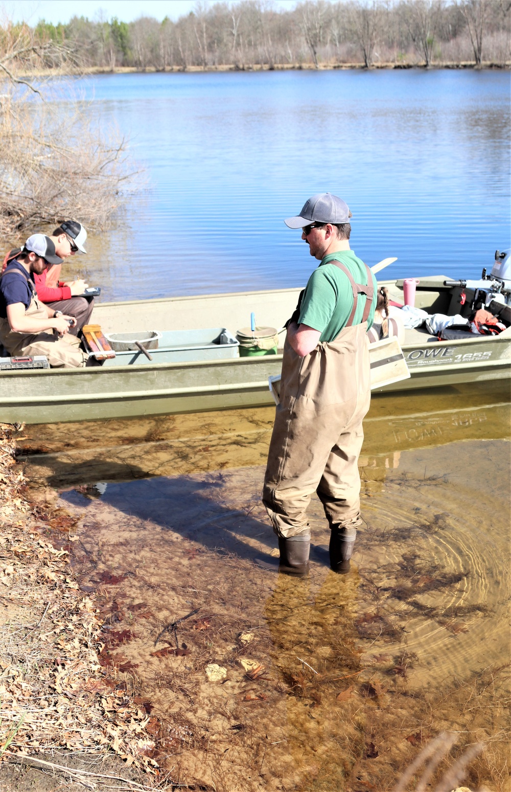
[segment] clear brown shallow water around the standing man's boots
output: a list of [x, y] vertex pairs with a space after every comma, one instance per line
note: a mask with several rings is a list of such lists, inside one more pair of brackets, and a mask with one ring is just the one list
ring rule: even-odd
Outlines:
[[[22, 441], [28, 476], [59, 485], [78, 518], [73, 564], [99, 592], [104, 663], [138, 678], [166, 765], [225, 792], [388, 790], [454, 729], [460, 745], [489, 741], [468, 786], [503, 790], [509, 390], [373, 399], [365, 527], [343, 577], [317, 550], [307, 579], [254, 564], [275, 554], [259, 499], [272, 413], [28, 427]], [[316, 499], [309, 516], [327, 543]], [[262, 668], [251, 678], [241, 660]]]

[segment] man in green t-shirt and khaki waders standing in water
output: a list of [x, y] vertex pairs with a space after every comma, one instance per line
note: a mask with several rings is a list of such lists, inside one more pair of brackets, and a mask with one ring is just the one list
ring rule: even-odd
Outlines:
[[301, 229], [311, 256], [320, 261], [287, 323], [264, 478], [263, 504], [278, 536], [278, 569], [285, 573], [308, 570], [305, 512], [312, 493], [330, 526], [335, 572], [349, 571], [361, 523], [358, 455], [371, 396], [365, 334], [373, 324], [377, 284], [350, 250], [350, 217], [344, 201], [326, 192], [284, 221]]

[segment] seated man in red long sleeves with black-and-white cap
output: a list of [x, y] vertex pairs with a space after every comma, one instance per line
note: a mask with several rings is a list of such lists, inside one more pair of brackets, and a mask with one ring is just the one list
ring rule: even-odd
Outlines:
[[[76, 220], [65, 220], [51, 234], [51, 242], [55, 245], [55, 255], [62, 261], [64, 258], [74, 256], [75, 253], [86, 253], [84, 244], [87, 231]], [[10, 250], [4, 259], [3, 269], [9, 261], [13, 261], [21, 249]], [[49, 265], [40, 275], [34, 273], [37, 296], [41, 303], [45, 303], [53, 310], [62, 311], [62, 314], [73, 316], [76, 324], [70, 328], [70, 333], [75, 336], [81, 332], [84, 325], [88, 325], [93, 312], [94, 299], [81, 297], [89, 284], [85, 280], [73, 281], [59, 280], [62, 265]], [[2, 272], [3, 272], [2, 269]]]

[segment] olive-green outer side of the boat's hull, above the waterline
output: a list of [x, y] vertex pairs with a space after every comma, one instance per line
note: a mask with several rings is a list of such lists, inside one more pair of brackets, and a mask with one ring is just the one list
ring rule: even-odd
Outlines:
[[[509, 341], [486, 341], [481, 346], [491, 356], [474, 360], [474, 344], [456, 342], [456, 355], [471, 356], [464, 363], [452, 363], [452, 353], [428, 364], [413, 364], [411, 378], [384, 386], [377, 392], [392, 392], [509, 379], [511, 359]], [[470, 346], [470, 351], [467, 350]], [[403, 348], [405, 359], [427, 348]], [[483, 354], [484, 354], [483, 352]], [[443, 362], [445, 361], [445, 362]], [[120, 418], [169, 413], [195, 413], [271, 405], [268, 377], [278, 375], [282, 356], [214, 360], [186, 364], [147, 364], [135, 368], [47, 369], [5, 371], [0, 377], [0, 420], [4, 423], [25, 421], [40, 424], [48, 421], [89, 421], [97, 418]]]

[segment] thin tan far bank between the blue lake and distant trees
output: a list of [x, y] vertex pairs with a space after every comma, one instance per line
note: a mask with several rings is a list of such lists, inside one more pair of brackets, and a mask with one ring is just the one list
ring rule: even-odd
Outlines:
[[[372, 63], [368, 68], [364, 63], [320, 63], [317, 67], [313, 63], [274, 63], [269, 66], [267, 63], [252, 64], [248, 66], [237, 66], [231, 64], [220, 64], [218, 66], [168, 66], [165, 69], [157, 69], [153, 66], [146, 68], [139, 68], [135, 66], [118, 66], [118, 67], [104, 67], [104, 66], [90, 66], [85, 67], [76, 72], [67, 72], [66, 76], [85, 77], [88, 74], [216, 74], [223, 72], [256, 72], [256, 71], [346, 71], [346, 70], [362, 70], [362, 71], [378, 71], [378, 70], [410, 70], [418, 69], [422, 71], [438, 71], [438, 70], [465, 70], [474, 69], [478, 71], [485, 70], [510, 70], [511, 61], [505, 63], [495, 63], [494, 61], [484, 61], [479, 66], [474, 61], [460, 61], [455, 62], [441, 62], [431, 63], [426, 67], [425, 63]], [[28, 72], [20, 72], [21, 78], [34, 78], [34, 77], [53, 77], [60, 76], [59, 70], [33, 70]]]

